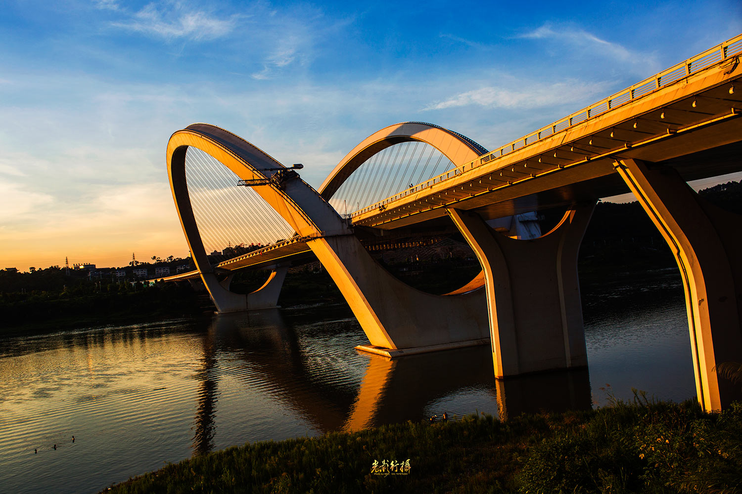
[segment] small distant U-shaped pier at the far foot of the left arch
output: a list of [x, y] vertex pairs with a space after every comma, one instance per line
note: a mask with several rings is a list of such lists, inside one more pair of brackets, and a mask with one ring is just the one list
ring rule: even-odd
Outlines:
[[214, 273], [201, 273], [201, 279], [206, 289], [209, 290], [209, 296], [217, 307], [217, 313], [269, 309], [278, 307], [278, 296], [280, 296], [280, 289], [288, 270], [288, 266], [280, 264], [275, 266], [263, 286], [247, 295], [229, 291], [229, 284], [232, 283], [234, 273], [230, 273], [222, 281], [219, 281]]

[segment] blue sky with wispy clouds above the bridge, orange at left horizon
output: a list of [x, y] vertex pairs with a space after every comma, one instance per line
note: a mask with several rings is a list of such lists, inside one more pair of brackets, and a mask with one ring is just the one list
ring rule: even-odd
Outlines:
[[165, 146], [193, 122], [317, 187], [389, 124], [494, 148], [741, 32], [739, 1], [6, 0], [0, 268], [187, 255]]

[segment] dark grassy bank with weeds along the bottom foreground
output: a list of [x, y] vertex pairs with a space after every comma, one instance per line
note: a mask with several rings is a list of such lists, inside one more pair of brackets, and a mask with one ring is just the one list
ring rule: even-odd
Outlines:
[[[407, 475], [373, 461], [410, 460]], [[407, 422], [196, 456], [113, 493], [738, 493], [742, 404], [618, 401], [594, 411]]]

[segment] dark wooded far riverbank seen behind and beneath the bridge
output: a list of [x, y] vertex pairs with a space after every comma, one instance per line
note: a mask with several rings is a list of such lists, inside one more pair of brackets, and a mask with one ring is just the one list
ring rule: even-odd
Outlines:
[[[740, 182], [719, 184], [699, 194], [718, 207], [742, 213]], [[539, 213], [542, 231], [556, 224], [563, 213], [563, 210]], [[234, 251], [236, 247], [228, 248]], [[428, 241], [424, 247], [379, 251], [373, 255], [394, 276], [428, 293], [456, 290], [481, 270], [476, 256], [460, 236], [438, 244]], [[155, 261], [172, 264], [188, 259], [171, 256], [165, 261]], [[674, 273], [672, 270], [677, 271], [672, 253], [639, 203], [597, 204], [578, 260], [580, 280], [585, 287], [657, 271]], [[139, 315], [143, 318], [183, 316], [213, 310], [206, 293], [194, 293], [191, 287], [163, 284], [145, 290], [142, 284], [80, 278], [80, 273], [65, 273], [57, 266], [32, 269], [31, 273], [0, 270], [2, 327], [6, 330], [82, 327], [136, 321]], [[264, 271], [237, 273], [231, 290], [250, 293], [260, 287], [267, 276]], [[585, 293], [583, 290], [583, 296]], [[344, 298], [317, 261], [289, 271], [278, 301], [280, 305], [290, 307], [323, 301], [343, 303]]]

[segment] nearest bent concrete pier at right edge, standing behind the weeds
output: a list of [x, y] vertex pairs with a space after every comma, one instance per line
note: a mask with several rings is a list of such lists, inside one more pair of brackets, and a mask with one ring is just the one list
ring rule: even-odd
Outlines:
[[742, 361], [742, 217], [698, 196], [673, 168], [632, 159], [615, 166], [680, 267], [698, 401], [720, 410], [742, 398], [715, 372]]

